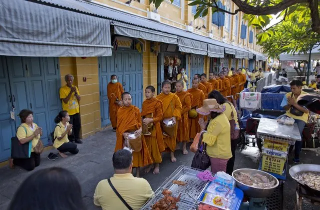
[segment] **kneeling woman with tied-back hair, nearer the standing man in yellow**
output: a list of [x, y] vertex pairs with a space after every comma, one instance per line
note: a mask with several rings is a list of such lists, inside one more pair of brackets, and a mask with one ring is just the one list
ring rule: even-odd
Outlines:
[[77, 144], [70, 142], [68, 135], [72, 133], [72, 124], [69, 124], [70, 116], [68, 111], [60, 111], [55, 118], [55, 122], [58, 123], [54, 132], [54, 147], [58, 149], [60, 156], [67, 157], [65, 152], [77, 154], [79, 149]]

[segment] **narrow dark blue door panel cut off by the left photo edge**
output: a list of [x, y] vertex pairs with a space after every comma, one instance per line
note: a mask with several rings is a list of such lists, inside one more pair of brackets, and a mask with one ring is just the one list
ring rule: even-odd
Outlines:
[[0, 57], [0, 101], [0, 161], [5, 161], [11, 155], [11, 137], [16, 134], [15, 120], [10, 115], [13, 105], [5, 56]]

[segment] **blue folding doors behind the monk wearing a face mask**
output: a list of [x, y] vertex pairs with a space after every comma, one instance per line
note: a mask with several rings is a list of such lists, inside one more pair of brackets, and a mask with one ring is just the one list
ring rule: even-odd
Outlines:
[[116, 74], [124, 90], [131, 93], [132, 104], [142, 107], [142, 54], [118, 50], [113, 51], [112, 56], [99, 57], [101, 126], [110, 124], [107, 85], [112, 74]]

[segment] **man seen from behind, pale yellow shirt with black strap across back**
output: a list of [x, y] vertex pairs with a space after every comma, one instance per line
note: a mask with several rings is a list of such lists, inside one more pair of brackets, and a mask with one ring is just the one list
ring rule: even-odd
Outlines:
[[132, 175], [132, 153], [126, 149], [119, 149], [112, 156], [112, 164], [115, 173], [110, 179], [103, 179], [98, 183], [93, 195], [95, 205], [101, 206], [103, 210], [129, 209], [128, 206], [134, 210], [140, 209], [154, 192], [146, 179]]

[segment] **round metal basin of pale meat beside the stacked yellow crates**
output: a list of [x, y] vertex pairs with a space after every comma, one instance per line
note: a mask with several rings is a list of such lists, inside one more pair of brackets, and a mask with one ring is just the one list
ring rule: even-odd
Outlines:
[[[243, 172], [243, 173], [247, 173], [250, 175], [259, 173], [261, 175], [266, 176], [269, 180], [274, 180], [275, 184], [272, 187], [269, 188], [259, 188], [259, 187], [255, 187], [255, 186], [250, 186], [247, 184], [244, 184], [240, 181], [238, 181], [234, 175], [237, 172]], [[257, 169], [251, 169], [251, 168], [240, 168], [240, 169], [236, 169], [232, 172], [232, 176], [235, 179], [236, 185], [238, 188], [240, 188], [243, 193], [249, 197], [255, 197], [255, 198], [264, 198], [264, 197], [268, 197], [273, 191], [274, 189], [279, 185], [279, 181], [278, 179], [276, 179], [273, 175], [264, 172], [262, 170], [257, 170]]]

